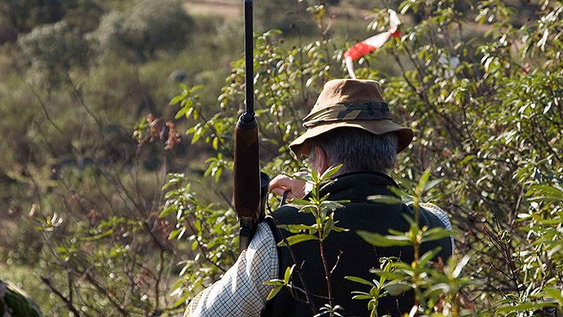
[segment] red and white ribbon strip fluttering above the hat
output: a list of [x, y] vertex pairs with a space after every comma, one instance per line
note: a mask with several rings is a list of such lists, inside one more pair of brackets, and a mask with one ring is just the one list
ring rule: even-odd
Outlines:
[[400, 37], [399, 25], [400, 20], [397, 16], [397, 13], [393, 10], [389, 10], [389, 30], [384, 33], [379, 33], [378, 35], [374, 35], [369, 37], [368, 39], [363, 40], [362, 42], [355, 44], [354, 46], [347, 49], [344, 52], [344, 60], [346, 61], [346, 68], [348, 68], [348, 73], [350, 73], [350, 77], [355, 79], [354, 75], [354, 63], [353, 61], [364, 56], [365, 54], [371, 53], [376, 49], [379, 49], [389, 37]]

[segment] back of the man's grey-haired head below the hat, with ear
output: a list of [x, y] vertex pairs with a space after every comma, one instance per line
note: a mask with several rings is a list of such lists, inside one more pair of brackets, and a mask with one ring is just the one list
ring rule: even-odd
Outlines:
[[329, 166], [342, 167], [338, 174], [367, 171], [388, 173], [395, 167], [398, 140], [393, 132], [374, 135], [358, 128], [336, 128], [310, 140], [309, 163], [320, 146]]

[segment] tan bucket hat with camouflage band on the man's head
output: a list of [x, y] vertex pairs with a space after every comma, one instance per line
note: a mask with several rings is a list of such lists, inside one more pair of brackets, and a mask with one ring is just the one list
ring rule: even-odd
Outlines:
[[412, 130], [393, 123], [379, 83], [374, 80], [330, 80], [324, 85], [315, 106], [303, 118], [307, 131], [289, 144], [298, 158], [309, 155], [308, 139], [336, 128], [360, 128], [374, 135], [395, 132], [397, 153], [412, 141]]

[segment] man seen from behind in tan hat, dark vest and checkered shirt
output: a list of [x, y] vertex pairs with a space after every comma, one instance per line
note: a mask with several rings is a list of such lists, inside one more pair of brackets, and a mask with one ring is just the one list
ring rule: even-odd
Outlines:
[[[380, 259], [396, 257], [410, 263], [412, 247], [374, 247], [355, 232], [365, 230], [388, 234], [389, 229], [406, 232], [414, 217], [414, 207], [407, 204], [380, 204], [369, 201], [374, 195], [394, 196], [397, 187], [389, 173], [396, 165], [396, 154], [412, 141], [413, 132], [393, 123], [388, 105], [373, 80], [330, 80], [324, 85], [315, 106], [303, 119], [307, 130], [290, 144], [298, 158], [308, 156], [311, 168], [322, 174], [332, 166], [341, 168], [331, 182], [320, 189], [334, 201], [349, 201], [334, 211], [334, 220], [346, 232], [334, 232], [324, 240], [325, 258], [334, 269], [331, 290], [334, 304], [343, 307], [344, 316], [367, 316], [367, 302], [352, 300], [353, 291], [369, 287], [346, 280], [357, 276], [372, 280], [369, 270], [379, 268]], [[278, 175], [270, 183], [270, 192], [288, 199], [306, 199], [305, 183]], [[420, 210], [419, 227], [447, 228], [450, 221], [444, 211], [431, 204]], [[313, 316], [327, 304], [327, 282], [319, 243], [310, 240], [288, 247], [277, 247], [292, 233], [277, 225], [315, 223], [310, 213], [300, 213], [298, 206], [282, 206], [272, 212], [258, 230], [248, 249], [223, 277], [198, 294], [188, 305], [185, 316]], [[282, 226], [283, 228], [283, 226]], [[421, 254], [440, 247], [436, 259], [446, 261], [453, 251], [449, 237], [422, 244]], [[296, 264], [303, 280], [292, 276], [293, 290], [281, 290], [266, 301], [272, 286], [264, 282], [283, 279], [286, 268]], [[362, 286], [367, 290], [362, 289]], [[308, 292], [305, 296], [303, 290]], [[402, 316], [415, 303], [414, 294], [386, 296], [379, 300], [380, 315]]]

